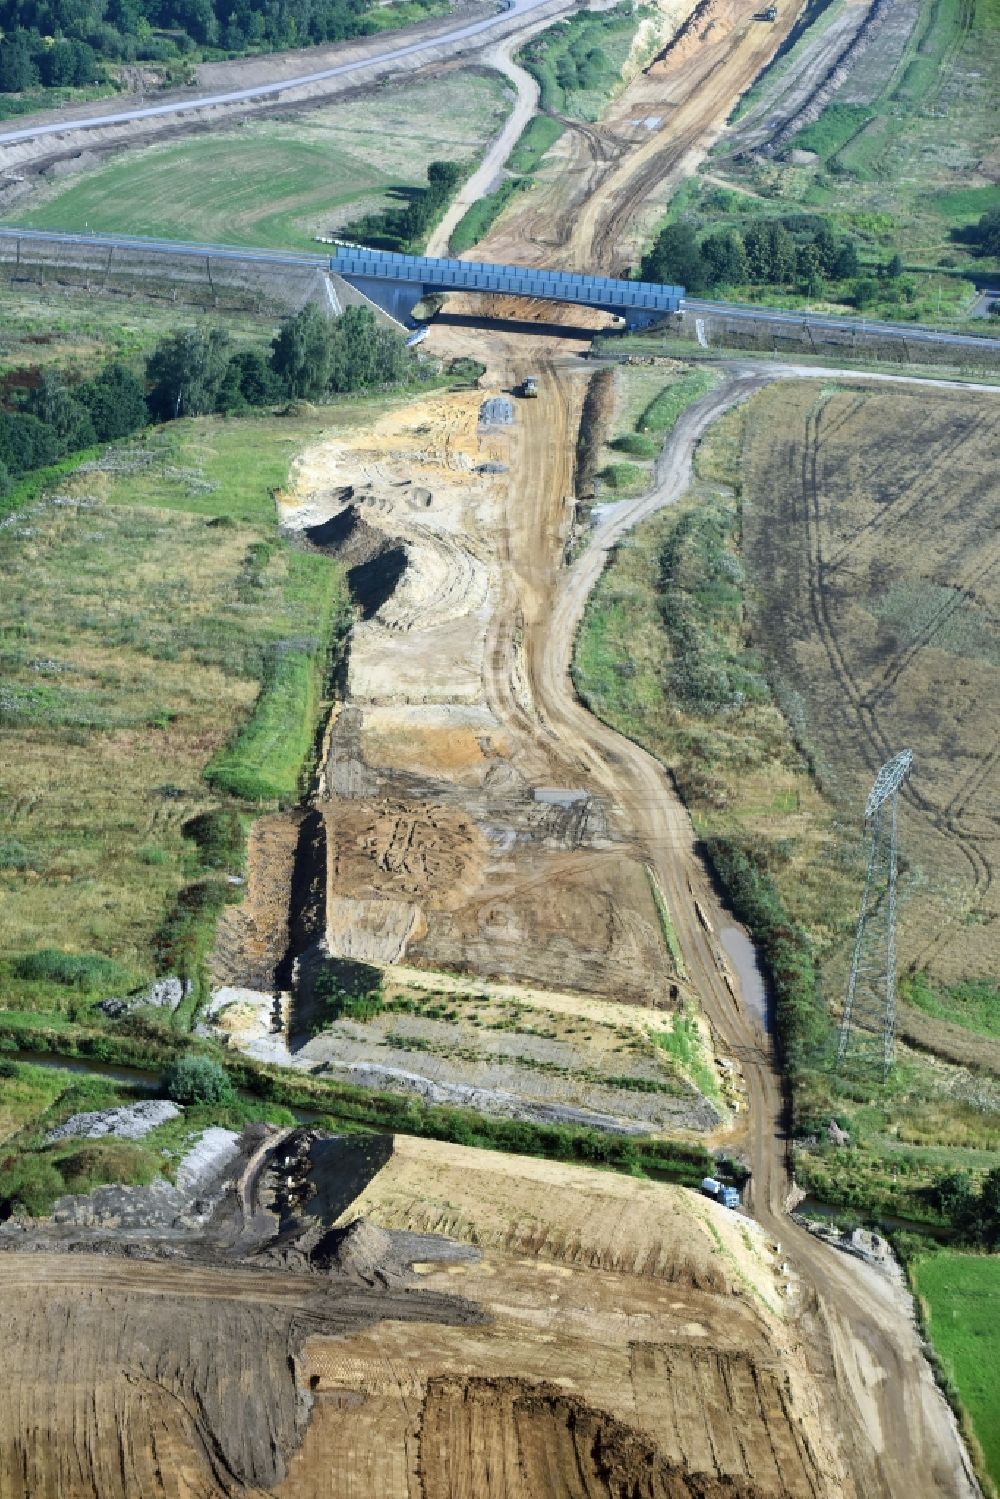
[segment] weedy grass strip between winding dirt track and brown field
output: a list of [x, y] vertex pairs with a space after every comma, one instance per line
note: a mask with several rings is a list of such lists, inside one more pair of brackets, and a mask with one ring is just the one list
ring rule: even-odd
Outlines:
[[[778, 705], [772, 663], [747, 643], [748, 603], [777, 576], [754, 571], [744, 550], [741, 456], [753, 409], [711, 429], [687, 498], [616, 549], [580, 628], [574, 681], [601, 718], [670, 767], [763, 950], [802, 1184], [861, 1213], [940, 1222], [927, 1189], [943, 1172], [981, 1178], [996, 1165], [1000, 1096], [987, 1076], [906, 1051], [885, 1087], [832, 1070], [820, 980], [834, 982], [828, 959], [850, 943], [864, 851], [796, 748], [783, 712], [795, 715], [796, 699]], [[756, 499], [766, 505], [766, 490]], [[982, 1013], [982, 988], [970, 992]], [[829, 1142], [831, 1118], [849, 1145]]]

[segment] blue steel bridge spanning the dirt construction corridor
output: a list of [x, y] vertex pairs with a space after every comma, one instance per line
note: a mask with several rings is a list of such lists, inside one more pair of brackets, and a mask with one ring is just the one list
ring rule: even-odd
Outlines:
[[613, 312], [628, 328], [658, 322], [684, 306], [684, 286], [615, 280], [582, 271], [534, 270], [528, 265], [490, 265], [483, 261], [445, 261], [432, 255], [397, 255], [361, 244], [337, 244], [330, 270], [376, 303], [397, 322], [412, 321], [426, 292], [472, 291], [540, 301], [571, 301]]

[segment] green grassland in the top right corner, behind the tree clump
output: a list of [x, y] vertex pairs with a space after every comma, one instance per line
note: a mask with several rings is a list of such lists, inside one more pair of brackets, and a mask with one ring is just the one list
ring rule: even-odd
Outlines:
[[[829, 18], [823, 10], [816, 28]], [[793, 63], [808, 37], [777, 72]], [[996, 261], [976, 256], [964, 231], [1000, 204], [1000, 186], [985, 168], [996, 135], [1000, 4], [921, 0], [916, 25], [904, 37], [906, 28], [894, 25], [877, 33], [819, 120], [777, 157], [730, 159], [724, 136], [703, 172], [681, 187], [670, 217], [699, 229], [742, 232], [753, 219], [807, 223], [820, 214], [858, 246], [859, 274], [870, 279], [868, 316], [961, 321], [975, 294], [966, 273], [997, 270]], [[768, 87], [765, 75], [757, 96], [765, 97]], [[816, 159], [793, 162], [790, 151]], [[886, 276], [894, 255], [903, 270]], [[826, 304], [822, 288], [804, 295], [735, 285], [726, 294], [736, 301]]]

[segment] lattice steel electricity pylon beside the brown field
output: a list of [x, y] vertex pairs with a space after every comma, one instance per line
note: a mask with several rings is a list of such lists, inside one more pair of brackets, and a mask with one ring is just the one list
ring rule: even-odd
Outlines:
[[837, 1042], [838, 1066], [849, 1049], [880, 1057], [883, 1078], [892, 1067], [897, 1033], [897, 800], [912, 764], [912, 750], [886, 760], [865, 803], [868, 871]]

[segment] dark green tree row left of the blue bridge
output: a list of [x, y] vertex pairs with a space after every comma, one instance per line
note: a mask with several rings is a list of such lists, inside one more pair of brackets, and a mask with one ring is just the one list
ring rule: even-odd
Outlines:
[[150, 421], [375, 390], [397, 385], [414, 369], [403, 340], [379, 327], [369, 307], [346, 307], [333, 319], [307, 306], [267, 352], [234, 349], [223, 328], [186, 328], [153, 349], [145, 378], [118, 361], [76, 382], [45, 370], [36, 385], [7, 391], [0, 406], [0, 495], [22, 474], [127, 438]]

